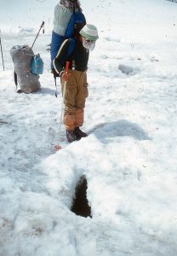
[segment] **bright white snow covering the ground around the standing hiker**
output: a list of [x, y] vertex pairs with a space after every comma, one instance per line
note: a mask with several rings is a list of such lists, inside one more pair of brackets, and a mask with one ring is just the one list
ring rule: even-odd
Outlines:
[[[62, 127], [54, 152], [61, 96], [47, 45], [56, 3], [0, 0], [0, 255], [175, 256], [177, 4], [81, 0], [100, 32], [88, 69], [89, 135], [67, 144]], [[9, 49], [31, 45], [43, 20], [34, 46], [42, 90], [16, 94]], [[70, 211], [83, 175], [92, 218]]]

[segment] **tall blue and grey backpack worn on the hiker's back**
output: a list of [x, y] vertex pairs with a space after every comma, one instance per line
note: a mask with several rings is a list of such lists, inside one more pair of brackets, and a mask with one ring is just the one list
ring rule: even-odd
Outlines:
[[[63, 18], [63, 22], [58, 25], [58, 29], [54, 26], [54, 30], [52, 32], [52, 40], [51, 40], [51, 49], [50, 49], [50, 56], [51, 56], [51, 69], [54, 72], [54, 66], [53, 66], [53, 61], [55, 56], [57, 55], [60, 45], [63, 43], [63, 41], [67, 38], [74, 38], [74, 33], [76, 31], [76, 25], [77, 29], [79, 30], [86, 24], [86, 19], [85, 16], [83, 15], [81, 10], [67, 10], [67, 13], [64, 13], [64, 7], [59, 6], [58, 9], [58, 17], [60, 17], [60, 20], [62, 20], [62, 15], [66, 14], [67, 18]], [[68, 24], [66, 24], [68, 18], [70, 18]], [[65, 24], [64, 24], [65, 23]], [[61, 28], [65, 28], [65, 31]], [[62, 32], [62, 34], [59, 34], [57, 32]], [[69, 55], [67, 53], [67, 55]]]

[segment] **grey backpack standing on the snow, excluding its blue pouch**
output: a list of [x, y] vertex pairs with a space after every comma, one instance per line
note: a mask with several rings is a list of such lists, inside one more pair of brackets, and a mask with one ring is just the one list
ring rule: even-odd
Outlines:
[[25, 93], [38, 90], [41, 87], [39, 75], [31, 73], [31, 61], [35, 59], [31, 47], [28, 45], [16, 45], [10, 49], [10, 55], [14, 62], [14, 83], [16, 88], [19, 84], [20, 90]]

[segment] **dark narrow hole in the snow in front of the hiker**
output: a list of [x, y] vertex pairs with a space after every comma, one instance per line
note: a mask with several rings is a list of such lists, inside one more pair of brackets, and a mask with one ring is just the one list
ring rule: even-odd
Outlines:
[[87, 189], [87, 179], [86, 177], [82, 176], [77, 183], [75, 189], [75, 199], [73, 200], [71, 212], [74, 212], [75, 214], [83, 216], [85, 218], [88, 216], [92, 218], [91, 207], [88, 206]]

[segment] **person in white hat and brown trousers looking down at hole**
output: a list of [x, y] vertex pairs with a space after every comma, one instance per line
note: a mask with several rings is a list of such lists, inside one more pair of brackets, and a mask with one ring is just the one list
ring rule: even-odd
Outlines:
[[[76, 26], [77, 27], [77, 26]], [[98, 32], [94, 25], [87, 24], [76, 33], [74, 49], [66, 58], [71, 40], [66, 39], [61, 45], [58, 54], [54, 59], [54, 70], [61, 78], [62, 93], [66, 81], [66, 93], [64, 97], [64, 117], [66, 126], [66, 137], [69, 143], [87, 137], [87, 134], [80, 130], [83, 125], [83, 112], [85, 100], [88, 96], [87, 69], [89, 50], [94, 49], [98, 39]], [[66, 73], [66, 61], [70, 62], [69, 72]]]

